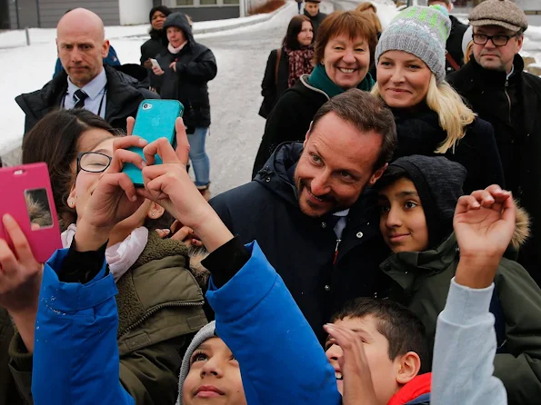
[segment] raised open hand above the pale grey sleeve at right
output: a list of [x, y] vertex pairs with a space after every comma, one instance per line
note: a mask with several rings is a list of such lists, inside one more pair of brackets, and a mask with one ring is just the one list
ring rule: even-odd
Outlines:
[[511, 193], [497, 185], [460, 197], [453, 220], [460, 249], [456, 282], [472, 288], [488, 287], [511, 242], [515, 224]]

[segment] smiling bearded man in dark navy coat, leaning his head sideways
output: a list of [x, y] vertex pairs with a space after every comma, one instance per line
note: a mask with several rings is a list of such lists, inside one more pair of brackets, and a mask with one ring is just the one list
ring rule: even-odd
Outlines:
[[345, 301], [382, 287], [388, 251], [370, 186], [395, 145], [393, 114], [350, 90], [319, 109], [304, 144], [283, 143], [254, 181], [210, 202], [231, 232], [259, 243], [321, 341]]

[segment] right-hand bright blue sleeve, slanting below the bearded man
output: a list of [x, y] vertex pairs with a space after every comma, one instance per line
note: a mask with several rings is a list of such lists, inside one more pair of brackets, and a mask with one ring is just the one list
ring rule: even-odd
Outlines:
[[338, 405], [335, 370], [282, 278], [256, 242], [251, 258], [206, 298], [216, 332], [239, 361], [250, 405]]

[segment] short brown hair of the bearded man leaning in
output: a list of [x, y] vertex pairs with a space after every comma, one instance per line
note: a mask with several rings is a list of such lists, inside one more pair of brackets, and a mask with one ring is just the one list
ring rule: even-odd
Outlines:
[[395, 116], [381, 99], [359, 89], [338, 94], [317, 110], [310, 132], [316, 128], [319, 120], [329, 113], [351, 123], [361, 133], [374, 131], [383, 136], [374, 170], [391, 160], [397, 143]]

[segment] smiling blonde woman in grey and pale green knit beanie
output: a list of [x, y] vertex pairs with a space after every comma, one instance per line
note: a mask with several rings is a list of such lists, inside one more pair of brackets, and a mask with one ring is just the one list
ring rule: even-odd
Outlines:
[[409, 7], [387, 26], [376, 46], [380, 96], [395, 114], [393, 160], [444, 155], [466, 167], [465, 193], [504, 186], [494, 129], [446, 83], [446, 39], [451, 21], [441, 5]]

